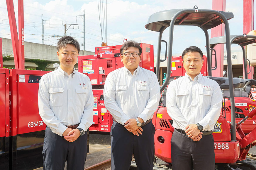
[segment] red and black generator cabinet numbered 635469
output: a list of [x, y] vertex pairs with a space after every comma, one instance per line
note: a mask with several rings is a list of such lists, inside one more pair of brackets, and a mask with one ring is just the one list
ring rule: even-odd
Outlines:
[[43, 166], [45, 123], [38, 112], [38, 87], [49, 71], [10, 70], [10, 166], [36, 169]]

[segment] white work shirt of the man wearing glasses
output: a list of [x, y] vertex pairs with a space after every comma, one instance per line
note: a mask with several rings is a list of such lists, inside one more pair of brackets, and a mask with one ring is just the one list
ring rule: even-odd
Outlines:
[[120, 124], [140, 117], [144, 123], [153, 117], [160, 100], [160, 86], [154, 72], [140, 66], [131, 72], [122, 67], [108, 74], [104, 103]]

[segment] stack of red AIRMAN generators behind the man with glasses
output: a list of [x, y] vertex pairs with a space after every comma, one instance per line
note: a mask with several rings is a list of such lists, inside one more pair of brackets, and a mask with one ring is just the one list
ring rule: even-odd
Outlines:
[[[118, 46], [96, 47], [95, 55], [78, 56], [78, 71], [87, 74], [91, 80], [94, 95], [93, 124], [89, 131], [110, 132], [113, 117], [104, 104], [103, 88], [108, 74], [123, 67], [120, 48]], [[153, 45], [140, 43], [142, 59], [140, 67], [154, 71]]]

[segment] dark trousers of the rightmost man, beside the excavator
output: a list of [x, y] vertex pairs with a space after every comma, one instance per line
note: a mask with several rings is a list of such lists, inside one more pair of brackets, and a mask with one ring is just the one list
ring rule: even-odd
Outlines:
[[215, 154], [212, 134], [193, 141], [174, 129], [171, 140], [173, 170], [214, 170]]

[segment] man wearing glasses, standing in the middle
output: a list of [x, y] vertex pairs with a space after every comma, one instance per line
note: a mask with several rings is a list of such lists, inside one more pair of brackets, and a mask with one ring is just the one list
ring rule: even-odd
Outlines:
[[113, 116], [111, 169], [128, 170], [134, 155], [138, 170], [153, 169], [155, 128], [151, 118], [160, 99], [154, 72], [139, 66], [142, 49], [127, 41], [120, 49], [124, 67], [108, 74], [105, 107]]

